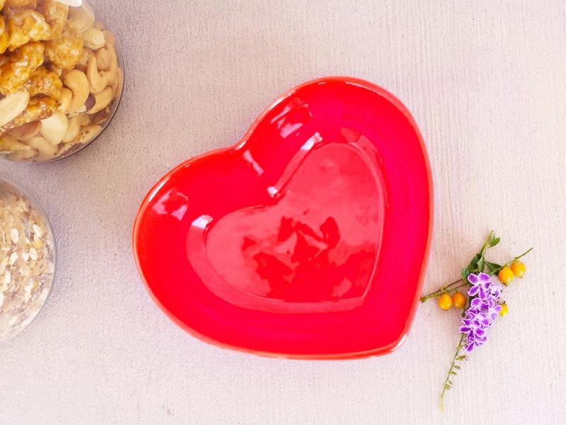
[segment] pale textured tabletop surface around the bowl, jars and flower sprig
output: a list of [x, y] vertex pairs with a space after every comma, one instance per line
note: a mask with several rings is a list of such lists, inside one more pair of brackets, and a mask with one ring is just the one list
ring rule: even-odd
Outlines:
[[[97, 142], [46, 166], [0, 164], [50, 215], [57, 283], [0, 346], [0, 424], [559, 424], [566, 415], [566, 6], [556, 1], [93, 1], [127, 84]], [[410, 108], [429, 149], [435, 222], [425, 290], [488, 229], [496, 258], [533, 244], [511, 312], [439, 390], [456, 312], [421, 305], [400, 350], [283, 361], [187, 336], [130, 249], [139, 202], [178, 162], [241, 137], [276, 96], [350, 74]]]

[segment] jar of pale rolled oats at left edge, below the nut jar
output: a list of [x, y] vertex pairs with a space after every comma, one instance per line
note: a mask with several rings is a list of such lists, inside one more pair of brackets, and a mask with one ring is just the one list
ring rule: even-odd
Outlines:
[[54, 272], [47, 218], [20, 189], [0, 180], [0, 342], [19, 334], [41, 310]]

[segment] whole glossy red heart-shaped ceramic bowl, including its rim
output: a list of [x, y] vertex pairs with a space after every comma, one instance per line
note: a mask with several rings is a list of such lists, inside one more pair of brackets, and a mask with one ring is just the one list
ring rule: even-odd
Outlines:
[[359, 79], [318, 79], [237, 145], [148, 193], [134, 254], [149, 293], [205, 341], [267, 356], [355, 358], [401, 344], [432, 228], [417, 125]]

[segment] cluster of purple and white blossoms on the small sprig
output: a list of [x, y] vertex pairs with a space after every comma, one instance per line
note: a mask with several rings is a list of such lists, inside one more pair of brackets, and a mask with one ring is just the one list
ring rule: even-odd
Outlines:
[[466, 351], [469, 353], [487, 340], [485, 331], [501, 311], [498, 301], [502, 286], [492, 282], [490, 275], [486, 273], [471, 273], [468, 281], [472, 284], [468, 295], [473, 298], [462, 317], [460, 331], [466, 335]]

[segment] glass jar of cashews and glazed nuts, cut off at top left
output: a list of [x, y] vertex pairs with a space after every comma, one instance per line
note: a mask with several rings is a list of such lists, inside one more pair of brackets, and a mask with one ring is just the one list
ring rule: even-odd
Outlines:
[[114, 35], [80, 0], [0, 0], [0, 157], [51, 162], [92, 142], [124, 74]]

